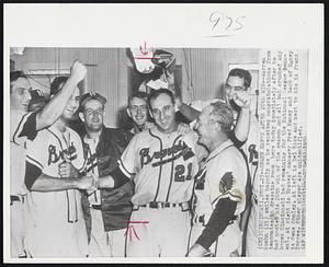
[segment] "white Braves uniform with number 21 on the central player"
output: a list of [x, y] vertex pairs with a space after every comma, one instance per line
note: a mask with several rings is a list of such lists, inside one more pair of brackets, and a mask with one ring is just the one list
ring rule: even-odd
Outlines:
[[152, 128], [136, 135], [124, 151], [120, 169], [135, 183], [127, 256], [186, 254], [196, 138]]

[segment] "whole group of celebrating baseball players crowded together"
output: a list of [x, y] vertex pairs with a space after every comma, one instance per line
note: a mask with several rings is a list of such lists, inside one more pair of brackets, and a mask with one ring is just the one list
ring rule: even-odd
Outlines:
[[232, 69], [226, 97], [198, 107], [135, 92], [131, 130], [104, 126], [106, 98], [80, 95], [86, 74], [75, 61], [33, 108], [29, 79], [10, 73], [11, 257], [259, 255], [250, 73]]

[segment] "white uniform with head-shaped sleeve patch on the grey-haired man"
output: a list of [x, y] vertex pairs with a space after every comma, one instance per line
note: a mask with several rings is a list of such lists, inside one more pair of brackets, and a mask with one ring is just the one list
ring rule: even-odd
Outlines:
[[236, 252], [240, 254], [242, 232], [239, 228], [239, 214], [246, 207], [248, 179], [248, 169], [243, 155], [230, 140], [227, 140], [209, 153], [195, 178], [195, 210], [190, 246], [202, 234], [217, 202], [220, 199], [229, 198], [237, 202], [236, 218], [213, 243], [211, 251], [216, 256], [229, 257]]

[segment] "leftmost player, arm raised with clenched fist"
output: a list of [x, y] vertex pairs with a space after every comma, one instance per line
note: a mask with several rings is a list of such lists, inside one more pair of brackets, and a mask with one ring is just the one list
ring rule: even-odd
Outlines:
[[10, 73], [10, 233], [11, 257], [25, 257], [25, 149], [39, 129], [52, 125], [63, 113], [67, 100], [83, 79], [86, 68], [79, 61], [71, 67], [69, 82], [39, 112], [29, 113], [31, 85], [21, 71]]

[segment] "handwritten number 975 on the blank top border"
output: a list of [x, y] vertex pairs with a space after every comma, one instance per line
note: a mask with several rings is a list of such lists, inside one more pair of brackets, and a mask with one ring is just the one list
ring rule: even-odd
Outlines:
[[215, 11], [209, 16], [209, 22], [213, 24], [212, 31], [215, 28], [220, 28], [224, 31], [239, 31], [243, 27], [241, 20], [246, 18], [245, 15], [231, 18], [227, 16], [218, 11]]

